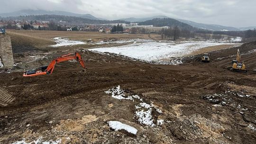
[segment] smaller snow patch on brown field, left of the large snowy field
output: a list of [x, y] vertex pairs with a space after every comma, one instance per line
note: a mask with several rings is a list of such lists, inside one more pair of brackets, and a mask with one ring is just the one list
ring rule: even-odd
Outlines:
[[54, 41], [57, 44], [56, 45], [50, 45], [50, 46], [58, 47], [58, 46], [67, 46], [67, 45], [84, 45], [84, 44], [86, 44], [85, 42], [69, 40], [68, 38], [64, 38], [64, 37], [67, 37], [67, 36], [55, 37]]

